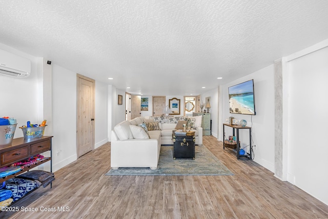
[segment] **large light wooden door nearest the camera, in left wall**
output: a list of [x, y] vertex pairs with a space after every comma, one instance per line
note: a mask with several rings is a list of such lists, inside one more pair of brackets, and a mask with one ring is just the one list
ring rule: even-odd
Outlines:
[[95, 81], [77, 74], [77, 156], [94, 149]]

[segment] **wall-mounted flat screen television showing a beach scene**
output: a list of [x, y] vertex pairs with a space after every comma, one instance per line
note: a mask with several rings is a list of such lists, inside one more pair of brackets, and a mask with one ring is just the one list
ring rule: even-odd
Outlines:
[[253, 79], [228, 88], [230, 113], [255, 115]]

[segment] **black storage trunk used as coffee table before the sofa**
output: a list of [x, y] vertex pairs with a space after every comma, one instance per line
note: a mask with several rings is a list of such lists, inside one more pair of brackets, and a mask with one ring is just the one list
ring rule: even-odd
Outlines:
[[173, 134], [173, 159], [195, 159], [195, 136]]

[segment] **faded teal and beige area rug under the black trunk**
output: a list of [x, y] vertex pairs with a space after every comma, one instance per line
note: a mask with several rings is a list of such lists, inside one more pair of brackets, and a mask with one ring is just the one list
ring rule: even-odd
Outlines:
[[233, 175], [205, 146], [195, 146], [195, 160], [173, 160], [172, 146], [161, 146], [156, 170], [120, 167], [106, 175]]

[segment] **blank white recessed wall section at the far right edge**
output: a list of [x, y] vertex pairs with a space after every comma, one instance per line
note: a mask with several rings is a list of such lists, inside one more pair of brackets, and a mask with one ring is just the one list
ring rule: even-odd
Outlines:
[[289, 63], [288, 181], [328, 204], [328, 47]]

